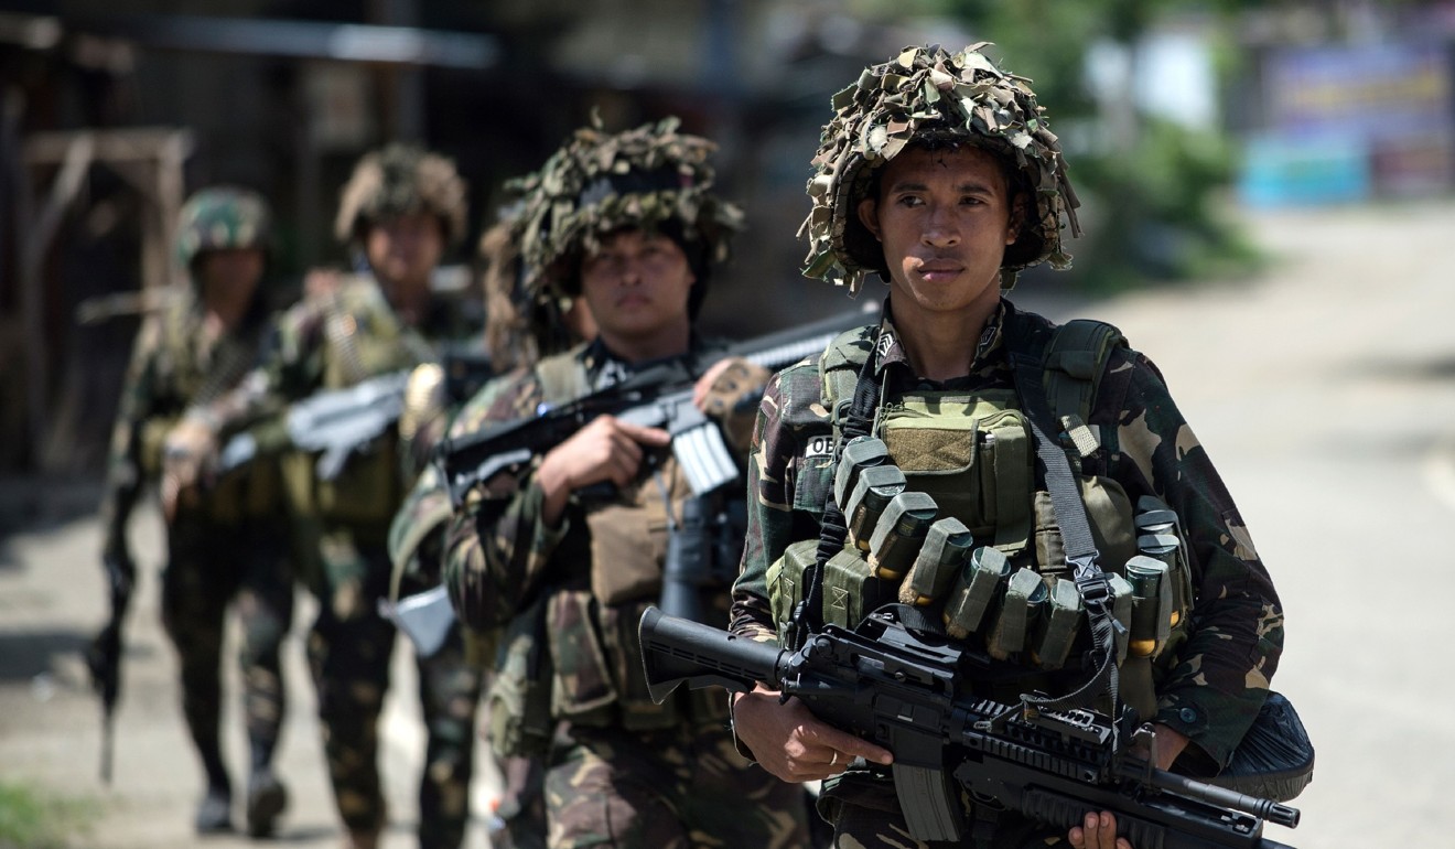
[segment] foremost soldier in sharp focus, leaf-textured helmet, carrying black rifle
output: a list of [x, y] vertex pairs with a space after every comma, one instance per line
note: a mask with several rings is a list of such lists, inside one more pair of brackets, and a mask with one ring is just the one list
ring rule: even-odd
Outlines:
[[[877, 272], [889, 284], [885, 319], [768, 384], [752, 443], [732, 631], [774, 641], [825, 622], [854, 626], [858, 619], [844, 612], [867, 615], [888, 593], [938, 613], [930, 619], [943, 620], [950, 638], [1005, 664], [1013, 677], [968, 682], [973, 696], [1007, 703], [1033, 690], [1065, 696], [1085, 682], [1081, 667], [1049, 652], [1049, 639], [1032, 642], [1039, 632], [1017, 635], [1002, 625], [1072, 577], [1119, 585], [1120, 575], [1099, 575], [1087, 568], [1097, 561], [1080, 556], [1072, 532], [1075, 505], [1084, 504], [1081, 526], [1090, 523], [1101, 566], [1120, 572], [1128, 564], [1126, 578], [1133, 565], [1165, 566], [1161, 580], [1173, 590], [1167, 609], [1152, 607], [1160, 631], [1138, 633], [1133, 622], [1129, 649], [1120, 649], [1119, 698], [1155, 722], [1158, 766], [1212, 775], [1267, 696], [1282, 607], [1237, 507], [1151, 361], [1109, 325], [1056, 328], [1007, 300], [1017, 269], [1046, 259], [1067, 266], [1061, 227], [1065, 220], [1078, 233], [1077, 201], [1029, 80], [998, 70], [982, 47], [908, 48], [835, 96], [809, 182], [805, 274], [856, 291]], [[1040, 416], [1048, 405], [1055, 419]], [[1055, 425], [1051, 440], [1056, 427], [1065, 431], [1059, 443], [1045, 443], [1040, 472], [1037, 419]], [[825, 437], [842, 451], [856, 435], [882, 440], [885, 463], [902, 472], [899, 486], [930, 495], [928, 513], [957, 520], [950, 527], [968, 532], [979, 562], [1004, 564], [1001, 574], [1029, 569], [1021, 594], [1001, 585], [981, 600], [988, 606], [959, 604], [962, 584], [890, 568], [893, 552], [874, 548], [889, 534], [870, 536], [876, 529], [857, 524], [866, 514], [856, 505], [869, 502], [838, 489], [838, 454], [821, 450]], [[1080, 488], [1052, 481], [1053, 446], [1067, 450]], [[1058, 492], [1071, 495], [1058, 504]], [[1142, 530], [1147, 523], [1160, 523], [1158, 533]], [[815, 556], [819, 546], [832, 556]], [[1165, 562], [1136, 558], [1149, 552]], [[794, 585], [815, 580], [809, 568], [824, 593], [794, 597]], [[1080, 593], [1055, 596], [1071, 610], [1083, 603]], [[796, 699], [780, 703], [762, 686], [733, 702], [738, 740], [765, 769], [786, 781], [826, 779], [819, 810], [835, 823], [835, 846], [925, 846], [906, 839], [886, 750], [826, 725]], [[1107, 813], [1064, 833], [966, 802], [966, 821], [976, 824], [975, 846], [1067, 840], [1077, 849], [1129, 849]]]

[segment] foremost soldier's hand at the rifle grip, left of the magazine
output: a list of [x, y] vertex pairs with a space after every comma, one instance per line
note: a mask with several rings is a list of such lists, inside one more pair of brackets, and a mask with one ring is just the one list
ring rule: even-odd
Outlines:
[[844, 772], [856, 757], [893, 762], [888, 749], [819, 721], [797, 699], [778, 702], [778, 693], [761, 684], [733, 699], [733, 732], [762, 769], [783, 781], [822, 781]]

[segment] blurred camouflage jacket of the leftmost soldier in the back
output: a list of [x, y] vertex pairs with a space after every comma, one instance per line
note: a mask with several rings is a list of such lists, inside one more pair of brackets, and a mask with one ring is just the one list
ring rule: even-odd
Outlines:
[[[266, 310], [259, 306], [242, 326], [217, 339], [208, 339], [202, 326], [202, 307], [188, 291], [148, 317], [137, 336], [106, 466], [102, 514], [108, 545], [119, 542], [143, 485], [160, 473], [163, 437], [183, 411], [226, 395], [258, 363]], [[196, 514], [236, 518], [240, 486], [243, 482], [233, 479], [214, 489]]]

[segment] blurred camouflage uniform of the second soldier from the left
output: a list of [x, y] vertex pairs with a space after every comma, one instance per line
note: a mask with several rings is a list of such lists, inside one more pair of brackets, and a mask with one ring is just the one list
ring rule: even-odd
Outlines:
[[[343, 328], [346, 332], [340, 332]], [[371, 278], [354, 277], [316, 293], [278, 320], [275, 345], [242, 392], [212, 406], [221, 422], [250, 424], [259, 444], [276, 444], [276, 414], [287, 402], [324, 389], [431, 363], [432, 339], [458, 338], [453, 306], [436, 301], [418, 328], [406, 326]], [[269, 433], [274, 431], [274, 433]], [[378, 613], [390, 591], [388, 520], [394, 516], [410, 466], [407, 447], [390, 433], [349, 459], [333, 482], [316, 479], [316, 457], [282, 457], [294, 545], [319, 616], [308, 635], [308, 661], [319, 692], [324, 754], [339, 814], [352, 832], [374, 832], [386, 821], [378, 778], [378, 715], [388, 687], [394, 626]], [[431, 836], [428, 845], [463, 839], [467, 808], [473, 711], [477, 676], [463, 649], [447, 647], [441, 666], [420, 671], [420, 693], [431, 743], [422, 778], [420, 829], [458, 832]]]

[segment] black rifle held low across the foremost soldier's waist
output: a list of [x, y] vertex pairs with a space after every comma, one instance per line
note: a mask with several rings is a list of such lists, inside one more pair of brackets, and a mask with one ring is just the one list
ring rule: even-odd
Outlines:
[[1263, 837], [1263, 821], [1293, 827], [1299, 811], [1272, 799], [1154, 769], [1131, 754], [1149, 728], [1087, 711], [1032, 711], [965, 696], [966, 667], [989, 658], [874, 613], [858, 631], [828, 625], [797, 651], [663, 616], [642, 616], [650, 695], [687, 683], [746, 692], [757, 682], [799, 698], [829, 725], [893, 753], [895, 791], [909, 833], [960, 840], [960, 792], [992, 798], [1052, 827], [1090, 811], [1116, 814], [1136, 849], [1291, 849]]

